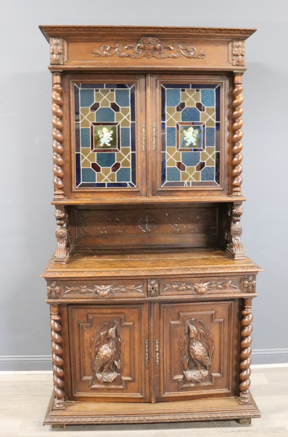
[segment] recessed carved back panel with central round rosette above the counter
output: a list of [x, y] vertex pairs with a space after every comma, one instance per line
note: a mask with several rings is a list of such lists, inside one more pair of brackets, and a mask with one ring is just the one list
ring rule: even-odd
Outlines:
[[[218, 205], [71, 208], [74, 247], [217, 246]], [[222, 230], [220, 231], [223, 232]]]

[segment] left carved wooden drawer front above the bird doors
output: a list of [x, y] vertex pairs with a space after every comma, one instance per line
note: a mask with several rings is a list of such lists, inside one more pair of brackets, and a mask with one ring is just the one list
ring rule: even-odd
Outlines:
[[63, 281], [61, 298], [143, 298], [147, 295], [146, 281]]

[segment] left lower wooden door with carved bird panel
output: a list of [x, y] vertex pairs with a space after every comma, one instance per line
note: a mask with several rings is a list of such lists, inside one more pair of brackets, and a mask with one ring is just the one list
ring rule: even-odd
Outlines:
[[71, 400], [149, 401], [148, 304], [70, 305]]

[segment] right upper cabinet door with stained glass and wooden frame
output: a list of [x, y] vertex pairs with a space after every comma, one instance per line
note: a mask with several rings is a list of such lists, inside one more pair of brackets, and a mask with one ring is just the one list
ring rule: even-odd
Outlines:
[[155, 75], [151, 89], [152, 194], [227, 194], [228, 175], [223, 169], [228, 157], [228, 79]]

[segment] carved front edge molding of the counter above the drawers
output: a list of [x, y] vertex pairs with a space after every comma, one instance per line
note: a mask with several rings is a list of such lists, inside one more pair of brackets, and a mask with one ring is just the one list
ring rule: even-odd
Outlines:
[[240, 267], [207, 267], [207, 268], [183, 268], [183, 269], [151, 269], [151, 270], [99, 270], [99, 271], [53, 271], [45, 272], [43, 277], [103, 277], [103, 276], [155, 276], [164, 274], [206, 274], [206, 273], [249, 273], [259, 272], [258, 266]]

